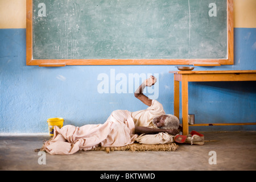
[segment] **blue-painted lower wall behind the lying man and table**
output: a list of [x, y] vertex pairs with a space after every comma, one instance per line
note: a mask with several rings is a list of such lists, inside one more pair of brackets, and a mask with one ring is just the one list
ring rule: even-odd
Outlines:
[[[234, 65], [199, 70], [256, 69], [256, 28], [234, 28]], [[173, 114], [172, 65], [67, 66], [26, 65], [26, 29], [0, 29], [0, 133], [47, 133], [47, 119], [63, 117], [65, 125], [104, 123], [113, 110], [146, 109], [133, 93], [99, 93], [100, 74], [158, 74], [155, 97]], [[115, 81], [115, 86], [118, 84]], [[253, 82], [190, 82], [189, 113], [196, 123], [255, 122]], [[111, 85], [109, 85], [111, 87]], [[127, 84], [127, 92], [130, 86]], [[157, 92], [157, 89], [159, 92]], [[110, 90], [110, 88], [109, 88]], [[256, 130], [254, 126], [189, 127], [198, 131]]]

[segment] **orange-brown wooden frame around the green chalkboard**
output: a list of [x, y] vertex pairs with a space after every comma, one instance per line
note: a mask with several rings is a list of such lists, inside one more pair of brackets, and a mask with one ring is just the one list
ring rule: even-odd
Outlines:
[[233, 0], [227, 0], [227, 59], [33, 59], [32, 55], [32, 0], [27, 0], [26, 63], [39, 67], [65, 65], [197, 65], [220, 66], [234, 64]]

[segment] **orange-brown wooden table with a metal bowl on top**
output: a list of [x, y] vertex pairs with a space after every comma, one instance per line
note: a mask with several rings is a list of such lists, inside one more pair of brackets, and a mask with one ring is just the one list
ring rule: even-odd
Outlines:
[[181, 108], [183, 135], [188, 134], [189, 126], [215, 125], [256, 125], [256, 123], [207, 123], [188, 125], [188, 82], [189, 81], [256, 81], [256, 70], [243, 71], [170, 71], [174, 73], [174, 115], [179, 118], [179, 98], [181, 81]]

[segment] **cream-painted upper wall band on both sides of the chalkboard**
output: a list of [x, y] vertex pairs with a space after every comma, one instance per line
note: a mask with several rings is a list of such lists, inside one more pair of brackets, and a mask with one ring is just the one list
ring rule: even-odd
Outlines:
[[[0, 17], [0, 28], [26, 28], [26, 0], [0, 0]], [[234, 27], [256, 28], [256, 0], [234, 0]]]

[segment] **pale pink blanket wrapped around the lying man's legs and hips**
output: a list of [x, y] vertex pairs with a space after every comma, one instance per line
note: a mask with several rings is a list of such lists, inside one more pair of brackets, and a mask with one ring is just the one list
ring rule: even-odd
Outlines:
[[76, 127], [66, 125], [54, 127], [54, 137], [45, 143], [49, 154], [74, 154], [79, 150], [90, 150], [100, 144], [103, 147], [117, 147], [131, 144], [138, 137], [134, 134], [131, 112], [115, 110], [104, 124]]

